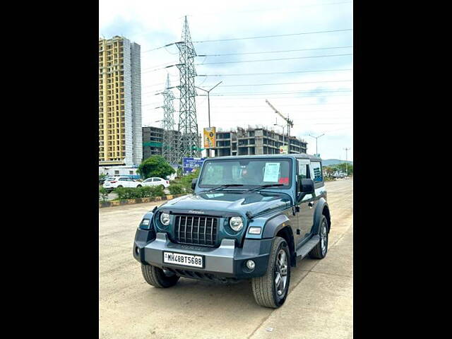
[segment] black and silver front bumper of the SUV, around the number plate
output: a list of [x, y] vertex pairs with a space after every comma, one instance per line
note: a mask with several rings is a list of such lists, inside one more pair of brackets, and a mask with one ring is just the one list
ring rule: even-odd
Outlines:
[[[172, 268], [182, 273], [210, 273], [218, 278], [246, 279], [264, 275], [273, 239], [245, 239], [243, 247], [237, 247], [234, 239], [222, 239], [219, 247], [174, 244], [166, 233], [153, 230], [136, 231], [133, 257], [141, 263], [160, 268]], [[204, 268], [163, 262], [163, 251], [203, 256]], [[254, 270], [246, 268], [246, 261], [256, 263]], [[184, 275], [186, 276], [186, 275]], [[194, 275], [193, 278], [196, 278]]]

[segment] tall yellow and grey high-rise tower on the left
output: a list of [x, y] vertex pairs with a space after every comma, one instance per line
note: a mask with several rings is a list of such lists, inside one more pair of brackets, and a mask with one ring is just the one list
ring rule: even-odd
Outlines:
[[99, 39], [99, 166], [136, 166], [143, 158], [140, 45]]

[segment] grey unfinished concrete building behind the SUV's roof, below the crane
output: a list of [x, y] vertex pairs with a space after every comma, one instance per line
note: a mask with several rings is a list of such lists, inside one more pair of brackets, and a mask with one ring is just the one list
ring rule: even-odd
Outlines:
[[[264, 127], [217, 131], [215, 157], [227, 155], [279, 154], [280, 146], [287, 145], [287, 136]], [[306, 153], [307, 142], [290, 136], [289, 153]]]

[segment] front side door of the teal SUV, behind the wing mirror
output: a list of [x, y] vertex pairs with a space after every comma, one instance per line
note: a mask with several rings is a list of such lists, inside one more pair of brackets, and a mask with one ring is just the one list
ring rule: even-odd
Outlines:
[[[311, 170], [309, 168], [308, 159], [298, 159], [298, 183], [302, 179], [311, 179]], [[302, 201], [297, 202], [299, 206], [298, 215], [298, 232], [297, 235], [297, 246], [300, 246], [303, 242], [308, 239], [311, 232], [312, 225], [314, 224], [314, 210], [315, 210], [315, 200], [314, 195], [307, 194], [304, 196]], [[298, 233], [297, 232], [297, 233]]]

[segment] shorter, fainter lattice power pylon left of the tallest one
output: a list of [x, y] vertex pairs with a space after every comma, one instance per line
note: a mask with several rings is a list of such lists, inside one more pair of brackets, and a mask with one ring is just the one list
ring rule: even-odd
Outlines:
[[162, 155], [170, 164], [177, 163], [179, 150], [174, 136], [174, 94], [169, 89], [169, 74], [167, 75], [167, 85], [163, 94], [163, 145]]

